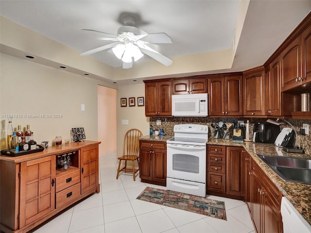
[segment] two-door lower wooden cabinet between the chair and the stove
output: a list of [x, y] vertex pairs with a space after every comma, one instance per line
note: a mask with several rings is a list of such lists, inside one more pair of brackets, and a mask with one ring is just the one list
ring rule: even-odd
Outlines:
[[166, 186], [166, 142], [139, 140], [139, 177]]

